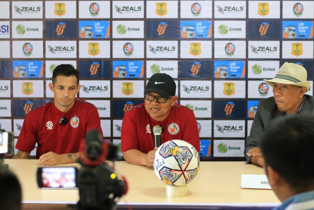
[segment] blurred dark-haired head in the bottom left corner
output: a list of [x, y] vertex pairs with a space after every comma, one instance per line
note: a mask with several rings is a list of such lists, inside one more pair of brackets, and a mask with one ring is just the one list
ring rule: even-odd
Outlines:
[[0, 209], [21, 210], [22, 189], [17, 177], [5, 166], [0, 165]]

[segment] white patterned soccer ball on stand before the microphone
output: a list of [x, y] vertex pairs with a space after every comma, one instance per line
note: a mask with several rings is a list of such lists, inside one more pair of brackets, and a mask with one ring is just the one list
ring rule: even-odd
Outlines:
[[171, 186], [190, 183], [200, 168], [197, 150], [183, 140], [163, 143], [154, 156], [154, 171], [157, 178]]

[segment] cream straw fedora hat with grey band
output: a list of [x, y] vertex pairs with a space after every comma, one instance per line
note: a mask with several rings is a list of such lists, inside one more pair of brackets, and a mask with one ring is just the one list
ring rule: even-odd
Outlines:
[[295, 85], [299, 87], [305, 87], [306, 91], [310, 90], [310, 82], [307, 81], [308, 73], [306, 69], [296, 63], [285, 62], [277, 72], [274, 79], [264, 80], [271, 87], [274, 83], [280, 83], [285, 85]]

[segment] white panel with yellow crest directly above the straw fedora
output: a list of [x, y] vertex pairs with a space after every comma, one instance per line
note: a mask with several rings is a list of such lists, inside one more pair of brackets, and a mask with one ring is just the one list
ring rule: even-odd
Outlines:
[[313, 59], [313, 41], [282, 41], [283, 59]]

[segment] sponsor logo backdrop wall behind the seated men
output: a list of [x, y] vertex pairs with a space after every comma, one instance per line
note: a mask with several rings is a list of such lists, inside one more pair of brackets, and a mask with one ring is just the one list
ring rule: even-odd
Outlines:
[[296, 62], [313, 87], [313, 11], [314, 0], [1, 0], [0, 128], [17, 138], [52, 99], [55, 66], [70, 63], [120, 145], [125, 112], [167, 73], [197, 118], [202, 159], [242, 160], [258, 101], [272, 96], [262, 79]]

